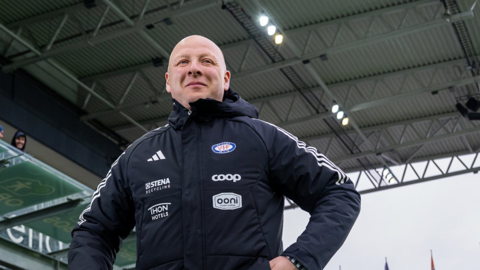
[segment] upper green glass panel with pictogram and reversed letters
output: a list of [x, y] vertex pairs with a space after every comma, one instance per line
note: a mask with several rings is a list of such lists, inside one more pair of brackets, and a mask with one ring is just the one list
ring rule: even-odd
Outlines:
[[0, 215], [83, 190], [31, 161], [0, 171]]

